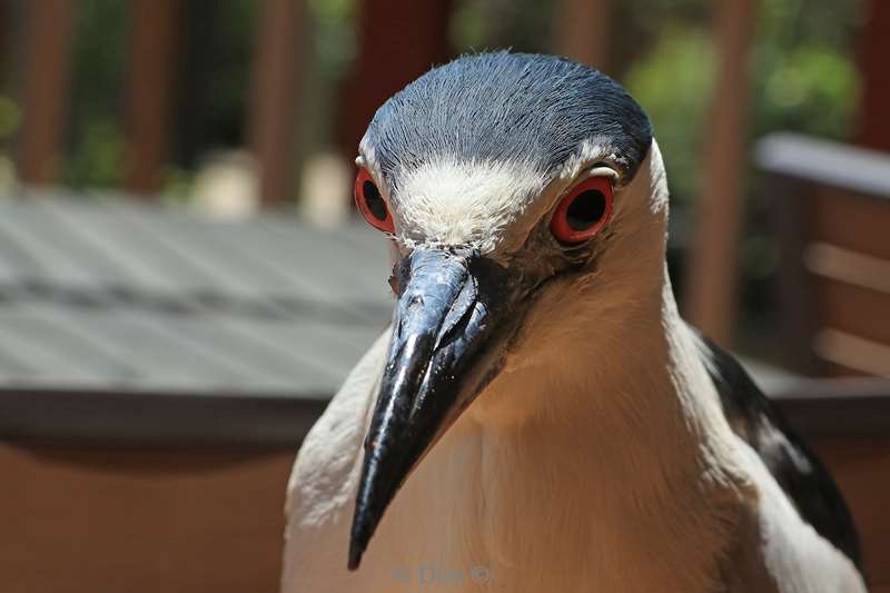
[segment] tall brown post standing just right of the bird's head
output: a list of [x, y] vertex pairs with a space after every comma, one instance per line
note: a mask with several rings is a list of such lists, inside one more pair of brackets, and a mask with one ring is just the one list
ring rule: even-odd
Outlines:
[[748, 49], [754, 0], [715, 4], [715, 88], [701, 162], [704, 185], [686, 290], [690, 320], [716, 343], [732, 342], [748, 160]]

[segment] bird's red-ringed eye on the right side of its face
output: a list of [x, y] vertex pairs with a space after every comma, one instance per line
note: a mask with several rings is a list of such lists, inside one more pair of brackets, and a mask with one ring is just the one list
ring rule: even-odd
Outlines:
[[550, 231], [563, 245], [584, 243], [612, 216], [612, 180], [591, 177], [572, 188], [556, 207]]

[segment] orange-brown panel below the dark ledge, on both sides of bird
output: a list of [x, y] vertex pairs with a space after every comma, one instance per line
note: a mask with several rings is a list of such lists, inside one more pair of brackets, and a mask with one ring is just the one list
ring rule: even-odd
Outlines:
[[[890, 437], [814, 442], [890, 593]], [[273, 593], [291, 451], [0, 445], [3, 593]]]

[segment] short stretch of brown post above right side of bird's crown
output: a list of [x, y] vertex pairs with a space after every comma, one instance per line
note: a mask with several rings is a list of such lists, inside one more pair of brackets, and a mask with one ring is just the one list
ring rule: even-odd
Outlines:
[[612, 28], [612, 0], [562, 0], [556, 52], [605, 71]]

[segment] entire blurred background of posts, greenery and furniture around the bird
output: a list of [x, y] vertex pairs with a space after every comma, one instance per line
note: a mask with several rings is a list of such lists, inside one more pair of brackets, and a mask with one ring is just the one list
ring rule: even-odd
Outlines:
[[2, 0], [4, 591], [275, 590], [293, 454], [389, 317], [358, 140], [500, 48], [650, 113], [684, 314], [890, 548], [890, 3]]

